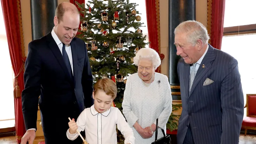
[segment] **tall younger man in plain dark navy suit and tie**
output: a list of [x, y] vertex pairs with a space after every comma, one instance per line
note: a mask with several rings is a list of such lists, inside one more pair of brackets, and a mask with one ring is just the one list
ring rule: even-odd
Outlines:
[[85, 42], [75, 38], [80, 22], [75, 5], [64, 2], [56, 8], [53, 30], [28, 45], [22, 109], [26, 133], [21, 144], [36, 136], [38, 97], [46, 144], [82, 143], [66, 137], [68, 117], [93, 104], [92, 73]]

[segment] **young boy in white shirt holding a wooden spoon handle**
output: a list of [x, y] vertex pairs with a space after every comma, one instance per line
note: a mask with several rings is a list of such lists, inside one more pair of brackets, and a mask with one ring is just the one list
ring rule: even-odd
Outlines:
[[111, 107], [115, 99], [117, 88], [111, 79], [100, 79], [94, 85], [92, 97], [94, 105], [85, 109], [75, 122], [69, 122], [66, 132], [68, 139], [75, 140], [79, 135], [76, 132], [85, 130], [85, 141], [89, 144], [117, 144], [116, 125], [124, 136], [124, 144], [134, 144], [133, 130], [127, 124], [121, 111]]

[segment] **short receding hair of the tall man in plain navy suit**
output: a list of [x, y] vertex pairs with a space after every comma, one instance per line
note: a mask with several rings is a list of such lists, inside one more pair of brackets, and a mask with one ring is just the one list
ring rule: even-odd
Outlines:
[[[70, 6], [67, 6], [68, 3], [70, 4]], [[60, 23], [60, 21], [63, 20], [63, 15], [67, 11], [79, 14], [79, 11], [75, 5], [71, 4], [70, 2], [62, 2], [61, 4], [59, 4], [57, 6], [56, 11], [55, 11], [55, 16], [58, 18], [58, 23]], [[79, 16], [80, 16], [80, 14], [79, 14]]]

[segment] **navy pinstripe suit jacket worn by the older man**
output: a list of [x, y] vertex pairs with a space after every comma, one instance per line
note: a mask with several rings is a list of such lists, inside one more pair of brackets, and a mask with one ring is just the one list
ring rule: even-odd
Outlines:
[[[178, 76], [183, 109], [177, 143], [183, 143], [190, 124], [195, 144], [238, 144], [244, 98], [237, 60], [209, 44], [190, 92], [190, 65], [183, 58]], [[203, 86], [206, 78], [214, 82]]]

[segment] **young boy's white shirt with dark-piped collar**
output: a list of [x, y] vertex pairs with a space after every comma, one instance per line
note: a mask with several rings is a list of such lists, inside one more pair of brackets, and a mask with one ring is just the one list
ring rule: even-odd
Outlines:
[[[98, 113], [94, 105], [85, 109], [77, 118], [78, 131], [85, 130], [85, 140], [89, 144], [117, 144], [116, 125], [124, 136], [124, 144], [134, 144], [135, 138], [132, 128], [128, 125], [123, 114], [117, 107]], [[68, 139], [74, 140], [79, 135], [66, 132]], [[79, 137], [80, 138], [80, 137]]]

